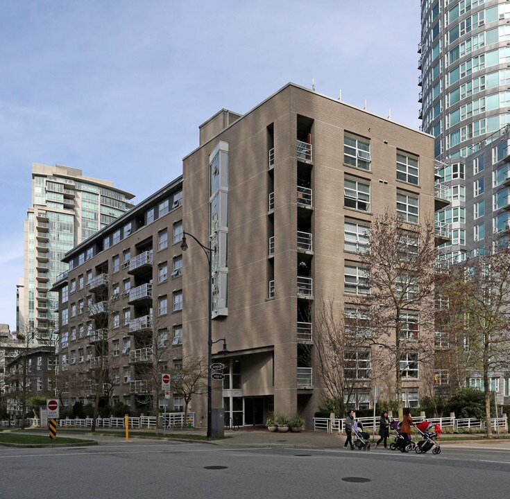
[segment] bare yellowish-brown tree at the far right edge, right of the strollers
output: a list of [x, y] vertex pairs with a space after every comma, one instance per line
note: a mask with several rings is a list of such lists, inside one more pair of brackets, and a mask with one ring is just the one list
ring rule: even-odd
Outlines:
[[510, 355], [510, 249], [507, 243], [494, 247], [493, 252], [456, 265], [441, 286], [448, 300], [448, 326], [462, 346], [464, 366], [459, 378], [483, 378], [489, 438], [491, 377], [498, 369], [508, 367]]

